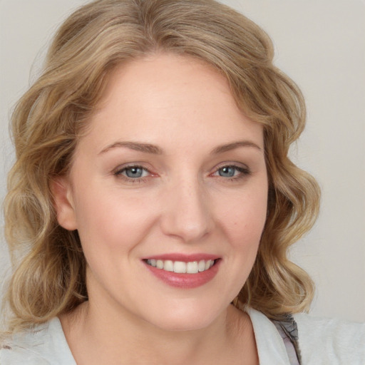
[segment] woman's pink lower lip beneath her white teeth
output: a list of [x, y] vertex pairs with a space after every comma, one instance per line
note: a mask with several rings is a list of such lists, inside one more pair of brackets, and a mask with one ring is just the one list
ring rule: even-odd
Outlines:
[[178, 287], [183, 289], [193, 289], [201, 287], [207, 282], [210, 282], [218, 272], [221, 260], [218, 259], [215, 264], [203, 272], [197, 272], [196, 274], [178, 274], [176, 272], [166, 271], [164, 269], [158, 269], [157, 267], [150, 266], [146, 262], [143, 262], [145, 266], [155, 275], [158, 279], [163, 281], [170, 287]]

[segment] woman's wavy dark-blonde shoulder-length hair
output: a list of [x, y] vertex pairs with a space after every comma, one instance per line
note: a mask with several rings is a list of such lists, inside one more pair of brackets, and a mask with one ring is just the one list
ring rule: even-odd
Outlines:
[[312, 280], [287, 252], [314, 224], [319, 188], [288, 158], [289, 145], [304, 128], [304, 100], [273, 65], [267, 34], [214, 0], [97, 0], [58, 29], [43, 73], [12, 115], [16, 163], [5, 200], [14, 265], [6, 295], [11, 331], [46, 322], [87, 299], [81, 242], [77, 231], [57, 223], [51, 181], [68, 173], [110, 71], [157, 51], [215, 66], [238, 106], [264, 125], [267, 222], [250, 277], [234, 304], [249, 304], [274, 319], [308, 308]]

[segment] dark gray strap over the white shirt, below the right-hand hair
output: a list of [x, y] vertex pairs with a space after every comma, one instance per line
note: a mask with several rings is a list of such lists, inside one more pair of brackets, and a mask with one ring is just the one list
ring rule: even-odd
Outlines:
[[297, 322], [291, 314], [287, 314], [282, 321], [272, 321], [284, 341], [289, 357], [290, 365], [301, 365], [302, 357], [299, 349], [299, 337]]

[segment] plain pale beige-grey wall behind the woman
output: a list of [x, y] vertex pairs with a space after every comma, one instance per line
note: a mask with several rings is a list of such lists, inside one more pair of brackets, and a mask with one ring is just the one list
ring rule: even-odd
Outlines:
[[[9, 109], [36, 76], [56, 26], [85, 2], [0, 0], [1, 200], [14, 158]], [[307, 130], [292, 158], [319, 180], [322, 210], [292, 257], [317, 284], [312, 313], [365, 322], [365, 1], [222, 2], [268, 32], [275, 63], [307, 100]], [[4, 239], [0, 249], [3, 277], [9, 268]]]

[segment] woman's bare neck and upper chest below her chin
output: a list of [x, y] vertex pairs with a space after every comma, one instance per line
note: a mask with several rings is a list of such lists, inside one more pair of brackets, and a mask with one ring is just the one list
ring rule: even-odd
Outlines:
[[99, 309], [85, 302], [61, 317], [77, 364], [258, 364], [250, 318], [235, 307], [190, 331], [168, 331]]

